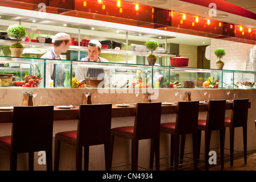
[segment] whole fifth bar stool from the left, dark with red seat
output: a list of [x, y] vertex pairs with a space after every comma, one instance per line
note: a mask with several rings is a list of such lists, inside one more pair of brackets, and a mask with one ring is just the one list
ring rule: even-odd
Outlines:
[[198, 153], [197, 159], [200, 158], [201, 132], [205, 132], [205, 171], [209, 171], [209, 150], [211, 131], [220, 131], [220, 148], [221, 148], [221, 168], [224, 168], [224, 121], [225, 121], [225, 100], [210, 100], [208, 104], [207, 119], [198, 121]]

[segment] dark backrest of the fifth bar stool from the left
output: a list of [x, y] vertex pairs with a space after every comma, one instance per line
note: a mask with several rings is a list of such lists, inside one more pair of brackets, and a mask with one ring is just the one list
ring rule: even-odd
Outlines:
[[209, 130], [224, 129], [226, 100], [210, 100], [206, 128]]

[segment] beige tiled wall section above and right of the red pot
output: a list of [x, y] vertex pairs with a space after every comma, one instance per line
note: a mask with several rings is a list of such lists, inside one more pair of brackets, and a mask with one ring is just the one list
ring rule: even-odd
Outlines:
[[188, 67], [197, 68], [197, 46], [180, 44], [179, 54], [189, 58]]

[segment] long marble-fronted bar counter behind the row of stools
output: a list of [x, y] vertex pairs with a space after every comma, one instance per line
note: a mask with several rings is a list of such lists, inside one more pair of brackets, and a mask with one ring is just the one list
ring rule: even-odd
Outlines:
[[[112, 103], [113, 106], [117, 104], [129, 104], [129, 107], [132, 107], [136, 102], [142, 102], [142, 93], [143, 89], [140, 89], [139, 96], [136, 97], [134, 94], [134, 89], [115, 89], [115, 88], [102, 88], [102, 89], [92, 89], [92, 98], [93, 96], [100, 96], [101, 104]], [[150, 89], [148, 89], [150, 90]], [[175, 90], [177, 90], [177, 97], [175, 98]], [[204, 90], [207, 90], [206, 96], [204, 96]], [[248, 126], [247, 126], [247, 151], [256, 150], [256, 131], [255, 131], [255, 119], [256, 119], [256, 90], [255, 89], [151, 89], [151, 102], [175, 102], [181, 101], [184, 99], [185, 92], [189, 91], [191, 93], [191, 100], [204, 101], [207, 99], [208, 94], [213, 94], [213, 99], [228, 99], [226, 91], [229, 90], [229, 100], [232, 100], [233, 94], [236, 93], [238, 98], [249, 98], [250, 108], [248, 113]], [[35, 97], [35, 105], [39, 105], [39, 100], [41, 96], [48, 97], [48, 104], [54, 106], [60, 105], [73, 105], [79, 106], [82, 104], [84, 89], [82, 88], [23, 88], [23, 87], [2, 87], [0, 88], [0, 103], [1, 106], [15, 106], [22, 105], [23, 103], [23, 93], [24, 92], [37, 92]], [[203, 104], [204, 105], [204, 104]], [[206, 104], [205, 104], [206, 105]], [[168, 106], [163, 106], [168, 107]], [[127, 107], [120, 107], [122, 109], [129, 109]], [[135, 109], [135, 108], [134, 108]], [[0, 111], [1, 112], [1, 111]], [[100, 111], [99, 111], [100, 113]], [[122, 111], [121, 111], [122, 113]], [[218, 114], [218, 113], [216, 113]], [[226, 110], [226, 117], [230, 117], [231, 110]], [[205, 119], [207, 116], [206, 111], [200, 111], [199, 119]], [[29, 113], [24, 113], [20, 117], [30, 117]], [[1, 118], [4, 120], [4, 118]], [[35, 118], [36, 121], [36, 118]], [[175, 114], [162, 114], [161, 122], [175, 122]], [[10, 135], [11, 134], [11, 121], [1, 123], [0, 121], [0, 136]], [[112, 118], [112, 128], [119, 127], [124, 125], [133, 125], [134, 117], [125, 115], [122, 117], [122, 114], [118, 117]], [[63, 120], [56, 120], [53, 123], [53, 151], [54, 151], [54, 137], [55, 134], [61, 131], [76, 130], [77, 128], [77, 119], [69, 120], [69, 118], [63, 118]], [[212, 133], [210, 148], [216, 150], [215, 148], [219, 146], [219, 134], [216, 132]], [[204, 134], [203, 134], [204, 135]], [[235, 144], [234, 149], [238, 151], [243, 151], [243, 140], [242, 140], [242, 128], [238, 128], [235, 131]], [[192, 136], [187, 136], [187, 142], [185, 143], [185, 153], [192, 152]], [[202, 136], [202, 142], [204, 143], [204, 137]], [[66, 150], [61, 150], [60, 154], [60, 170], [75, 170], [75, 147], [69, 146], [68, 144], [63, 144], [61, 147], [65, 147]], [[129, 140], [116, 138], [114, 143], [113, 151], [113, 166], [130, 163], [131, 154], [129, 148], [131, 143]], [[170, 135], [161, 134], [160, 135], [160, 157], [169, 155], [170, 151]], [[225, 139], [225, 148], [229, 148], [229, 130], [226, 130], [226, 139]], [[204, 145], [201, 145], [201, 151], [204, 151]], [[225, 154], [229, 154], [228, 150], [225, 150]], [[89, 170], [105, 170], [104, 162], [104, 146], [91, 146], [90, 147], [90, 163]], [[1, 163], [0, 170], [9, 170], [9, 153], [0, 150]], [[186, 156], [191, 156], [188, 154]], [[204, 155], [200, 156], [201, 159], [204, 159]], [[26, 159], [26, 160], [25, 160]], [[28, 155], [19, 154], [18, 155], [18, 170], [27, 170]], [[38, 152], [35, 152], [35, 170], [46, 170], [46, 165], [39, 164]], [[139, 166], [148, 168], [150, 159], [150, 140], [142, 140], [139, 143]], [[188, 159], [189, 160], [189, 159]], [[169, 164], [169, 159], [161, 159], [161, 164]], [[160, 165], [160, 170], [167, 169], [168, 167]], [[122, 166], [112, 168], [115, 170], [130, 170], [130, 166]], [[139, 170], [144, 170], [139, 168]]]

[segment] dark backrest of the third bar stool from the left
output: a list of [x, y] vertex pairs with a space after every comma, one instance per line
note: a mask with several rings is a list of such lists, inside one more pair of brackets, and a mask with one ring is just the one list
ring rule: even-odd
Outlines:
[[137, 103], [134, 123], [135, 138], [159, 138], [161, 110], [161, 102]]

